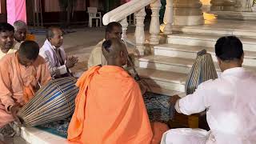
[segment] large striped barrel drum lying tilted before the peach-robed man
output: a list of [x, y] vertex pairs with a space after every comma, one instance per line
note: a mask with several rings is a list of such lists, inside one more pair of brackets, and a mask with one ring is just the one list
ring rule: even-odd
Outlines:
[[77, 80], [72, 77], [51, 80], [34, 98], [18, 111], [25, 126], [38, 126], [70, 117], [78, 94]]

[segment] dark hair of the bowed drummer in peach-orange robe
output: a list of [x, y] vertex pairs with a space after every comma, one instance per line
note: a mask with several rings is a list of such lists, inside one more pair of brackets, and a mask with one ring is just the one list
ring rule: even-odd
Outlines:
[[18, 54], [21, 54], [30, 60], [35, 60], [38, 58], [39, 54], [38, 43], [34, 41], [22, 42], [21, 46], [19, 47]]

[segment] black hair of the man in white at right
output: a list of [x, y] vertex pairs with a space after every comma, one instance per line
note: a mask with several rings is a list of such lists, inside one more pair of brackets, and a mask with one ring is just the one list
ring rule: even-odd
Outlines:
[[235, 36], [218, 38], [215, 44], [215, 54], [222, 61], [241, 59], [242, 42]]

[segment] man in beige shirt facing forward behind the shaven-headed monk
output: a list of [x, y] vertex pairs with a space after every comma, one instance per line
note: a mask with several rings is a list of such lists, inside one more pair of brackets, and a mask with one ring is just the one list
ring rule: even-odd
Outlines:
[[88, 69], [91, 66], [106, 65], [106, 58], [102, 54], [102, 43], [110, 38], [122, 38], [122, 26], [120, 23], [110, 22], [106, 26], [105, 39], [103, 39], [101, 42], [98, 42], [94, 50], [92, 50], [88, 60]]

